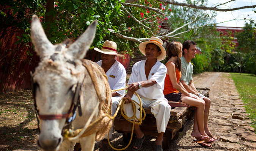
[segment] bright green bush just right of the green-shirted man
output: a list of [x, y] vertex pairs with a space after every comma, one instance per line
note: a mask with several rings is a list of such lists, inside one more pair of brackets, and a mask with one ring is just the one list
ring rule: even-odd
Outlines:
[[207, 58], [206, 54], [196, 54], [196, 58], [191, 60], [191, 63], [193, 65], [194, 71], [193, 73], [198, 74], [203, 71], [206, 71], [207, 68], [209, 68], [209, 59]]

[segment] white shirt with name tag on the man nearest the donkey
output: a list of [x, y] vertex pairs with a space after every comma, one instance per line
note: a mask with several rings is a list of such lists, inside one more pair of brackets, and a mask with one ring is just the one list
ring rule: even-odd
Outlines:
[[[102, 65], [102, 60], [98, 61], [97, 64], [99, 66]], [[110, 86], [110, 88], [113, 89], [121, 89], [121, 88], [125, 88], [126, 85], [126, 70], [124, 68], [124, 66], [119, 63], [118, 61], [116, 61], [111, 67], [110, 69], [108, 69], [107, 73], [106, 73], [107, 77], [108, 77], [108, 84]], [[115, 91], [118, 94], [120, 94], [121, 96], [125, 95], [125, 90], [121, 90], [121, 91]]]

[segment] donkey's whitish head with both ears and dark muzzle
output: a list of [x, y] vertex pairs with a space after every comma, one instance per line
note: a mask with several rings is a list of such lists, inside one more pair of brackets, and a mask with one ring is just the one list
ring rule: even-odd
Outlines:
[[[74, 43], [52, 45], [36, 15], [32, 16], [31, 39], [40, 63], [33, 73], [35, 100], [40, 115], [68, 113], [77, 83], [82, 83], [81, 60], [93, 42], [97, 22], [93, 22]], [[38, 146], [44, 151], [58, 150], [66, 119], [40, 120]]]

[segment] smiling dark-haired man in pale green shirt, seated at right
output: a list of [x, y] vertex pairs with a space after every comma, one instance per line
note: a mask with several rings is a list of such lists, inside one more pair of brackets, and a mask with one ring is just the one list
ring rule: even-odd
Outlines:
[[[210, 132], [210, 130], [208, 128], [210, 99], [203, 96], [202, 94], [198, 93], [198, 91], [196, 90], [195, 85], [193, 84], [193, 81], [192, 81], [193, 80], [193, 78], [192, 78], [193, 65], [190, 61], [191, 61], [191, 59], [196, 57], [195, 55], [196, 55], [196, 45], [197, 44], [196, 44], [196, 42], [194, 42], [192, 40], [185, 40], [185, 42], [183, 42], [182, 45], [183, 45], [183, 48], [182, 48], [183, 57], [181, 57], [181, 79], [180, 79], [180, 82], [182, 83], [182, 85], [188, 92], [195, 94], [196, 96], [198, 96], [204, 100], [204, 102], [205, 102], [204, 131], [209, 137], [211, 137], [212, 139], [215, 139], [217, 141], [217, 138], [212, 135], [212, 133]], [[196, 121], [197, 121], [196, 117], [194, 117], [195, 124], [194, 124], [193, 131], [191, 133], [192, 136], [195, 136], [195, 134], [199, 132], [198, 124]], [[211, 141], [212, 141], [212, 139], [211, 139]], [[206, 148], [210, 146], [209, 144], [203, 144], [203, 145]]]

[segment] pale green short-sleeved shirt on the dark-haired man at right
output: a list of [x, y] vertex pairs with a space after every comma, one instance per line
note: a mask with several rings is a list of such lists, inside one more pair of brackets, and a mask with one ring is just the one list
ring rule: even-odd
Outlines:
[[187, 63], [184, 57], [181, 57], [181, 81], [185, 81], [186, 84], [190, 82], [192, 79], [193, 74], [193, 65], [191, 62]]

